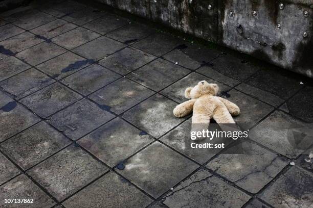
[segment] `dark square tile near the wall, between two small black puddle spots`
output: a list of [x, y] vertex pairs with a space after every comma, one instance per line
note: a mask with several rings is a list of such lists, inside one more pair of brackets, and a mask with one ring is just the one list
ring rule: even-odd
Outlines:
[[133, 44], [133, 47], [144, 50], [154, 56], [162, 56], [180, 44], [182, 44], [180, 39], [167, 34], [157, 33]]

